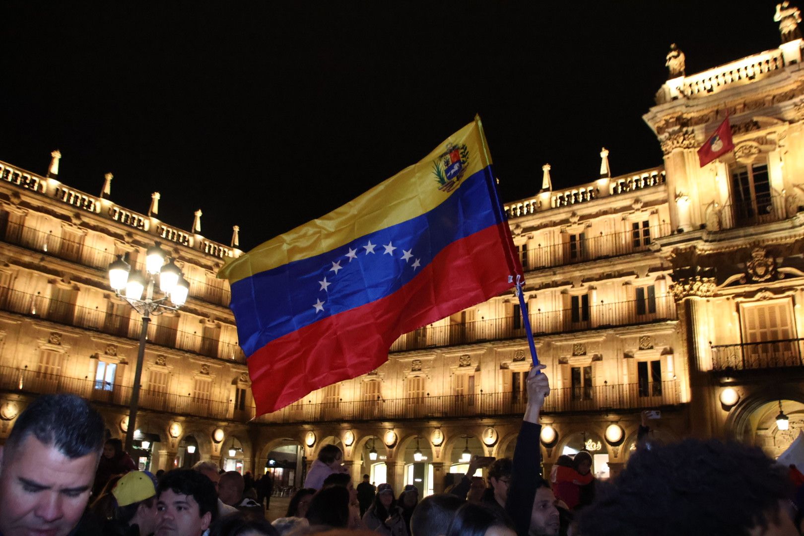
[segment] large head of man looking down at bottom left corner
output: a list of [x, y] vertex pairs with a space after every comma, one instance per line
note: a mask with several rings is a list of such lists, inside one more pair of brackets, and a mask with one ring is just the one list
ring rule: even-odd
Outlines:
[[75, 395], [42, 395], [0, 449], [0, 534], [69, 534], [80, 522], [104, 445], [104, 421]]

